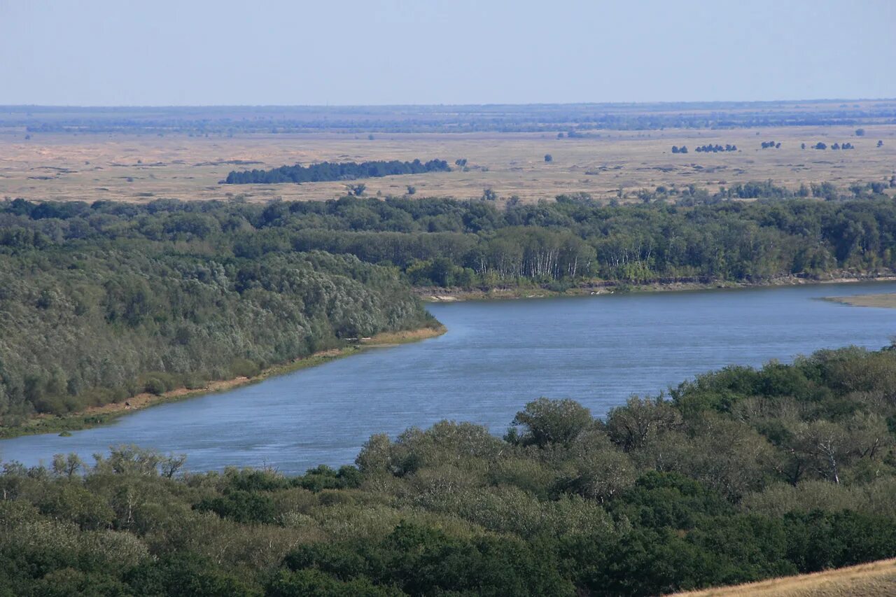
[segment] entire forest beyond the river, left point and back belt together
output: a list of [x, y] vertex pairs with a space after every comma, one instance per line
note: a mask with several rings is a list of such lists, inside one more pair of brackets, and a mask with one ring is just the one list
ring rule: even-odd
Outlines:
[[[0, 425], [433, 324], [410, 285], [763, 281], [896, 266], [896, 202], [769, 183], [639, 204], [0, 203]], [[805, 195], [836, 198], [831, 185]], [[753, 202], [734, 198], [770, 196]], [[671, 202], [676, 203], [671, 203]]]

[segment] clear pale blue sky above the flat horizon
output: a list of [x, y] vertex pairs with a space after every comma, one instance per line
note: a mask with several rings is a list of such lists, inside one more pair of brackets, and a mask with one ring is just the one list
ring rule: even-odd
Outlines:
[[893, 0], [0, 0], [0, 104], [896, 97]]

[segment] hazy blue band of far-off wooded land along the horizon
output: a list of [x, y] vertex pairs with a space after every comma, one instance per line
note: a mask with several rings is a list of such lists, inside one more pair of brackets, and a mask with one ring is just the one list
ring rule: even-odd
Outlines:
[[29, 133], [291, 134], [661, 130], [896, 123], [893, 102], [678, 102], [464, 106], [61, 108], [8, 106], [0, 127]]

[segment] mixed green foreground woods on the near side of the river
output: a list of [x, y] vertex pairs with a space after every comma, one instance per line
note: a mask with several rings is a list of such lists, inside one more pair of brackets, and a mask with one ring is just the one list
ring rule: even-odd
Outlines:
[[847, 348], [298, 477], [133, 446], [5, 463], [0, 594], [654, 595], [890, 558], [894, 396], [896, 350]]

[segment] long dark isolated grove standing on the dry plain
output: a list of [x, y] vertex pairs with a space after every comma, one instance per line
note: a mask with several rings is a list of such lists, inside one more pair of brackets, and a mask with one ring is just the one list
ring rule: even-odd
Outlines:
[[224, 181], [228, 185], [276, 184], [323, 182], [329, 180], [354, 180], [357, 178], [391, 177], [399, 174], [423, 174], [424, 172], [450, 172], [451, 167], [445, 160], [377, 160], [329, 162], [324, 161], [310, 166], [280, 166], [270, 170], [233, 170]]

